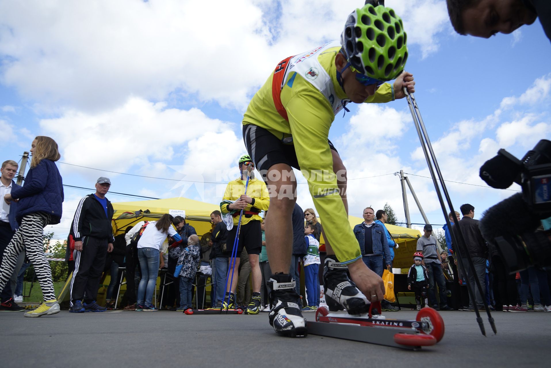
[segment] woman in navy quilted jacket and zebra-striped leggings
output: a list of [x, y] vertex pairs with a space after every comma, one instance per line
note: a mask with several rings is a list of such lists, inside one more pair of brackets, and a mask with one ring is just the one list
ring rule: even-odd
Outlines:
[[63, 183], [55, 164], [60, 159], [55, 140], [38, 136], [33, 140], [30, 152], [33, 158], [24, 185], [3, 198], [6, 203], [18, 202], [15, 218], [20, 226], [4, 251], [0, 266], [0, 290], [9, 282], [19, 253], [25, 250], [26, 257], [33, 263], [44, 296], [44, 303], [26, 312], [25, 317], [40, 317], [60, 312], [53, 290], [50, 263], [42, 249], [42, 231], [46, 225], [60, 223]]

